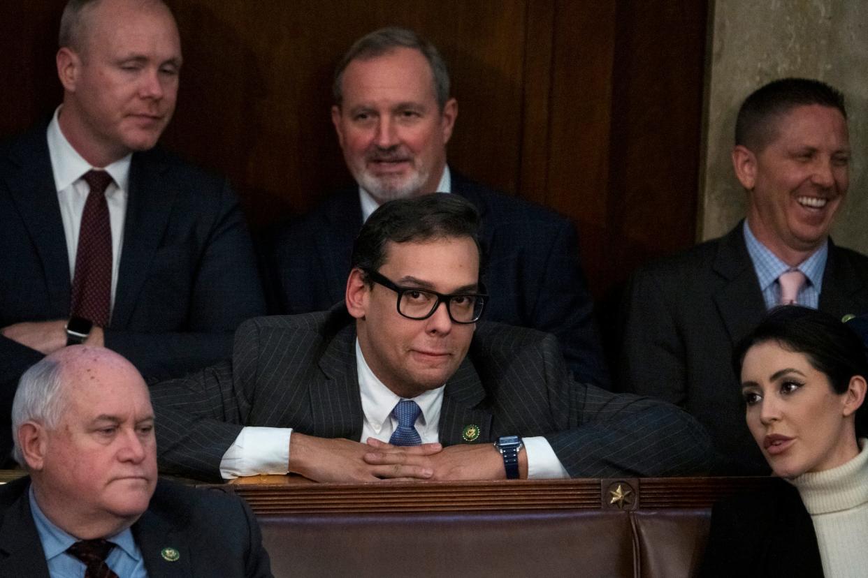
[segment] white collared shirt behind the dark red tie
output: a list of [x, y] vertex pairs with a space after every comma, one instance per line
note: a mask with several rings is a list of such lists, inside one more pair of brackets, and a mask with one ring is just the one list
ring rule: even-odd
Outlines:
[[54, 172], [57, 201], [63, 221], [63, 234], [66, 237], [66, 250], [69, 257], [69, 283], [76, 276], [76, 255], [78, 253], [78, 233], [82, 228], [82, 212], [88, 200], [90, 187], [82, 179], [84, 174], [94, 168], [105, 169], [115, 179], [106, 189], [106, 202], [109, 204], [111, 224], [111, 307], [115, 307], [118, 271], [121, 266], [123, 246], [123, 226], [127, 218], [127, 199], [129, 191], [129, 164], [132, 154], [116, 160], [109, 166], [95, 167], [82, 158], [69, 140], [63, 136], [57, 118], [61, 107], [57, 107], [49, 122], [48, 145], [51, 170]]

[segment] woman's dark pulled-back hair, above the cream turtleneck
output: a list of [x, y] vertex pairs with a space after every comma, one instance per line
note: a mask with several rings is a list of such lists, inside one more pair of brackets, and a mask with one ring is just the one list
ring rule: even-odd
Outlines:
[[[784, 305], [769, 311], [733, 350], [736, 375], [741, 374], [747, 350], [766, 341], [775, 341], [788, 351], [805, 354], [811, 366], [825, 374], [838, 394], [847, 391], [854, 375], [868, 380], [865, 341], [847, 323], [817, 309]], [[868, 414], [864, 407], [865, 404], [856, 414], [858, 434], [868, 431], [865, 428]]]

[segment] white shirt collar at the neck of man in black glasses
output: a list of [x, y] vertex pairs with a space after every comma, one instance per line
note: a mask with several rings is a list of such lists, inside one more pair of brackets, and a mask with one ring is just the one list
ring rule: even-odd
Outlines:
[[[356, 370], [358, 372], [358, 390], [362, 398], [362, 412], [365, 419], [372, 426], [382, 427], [391, 415], [401, 398], [371, 371], [362, 354], [362, 348], [356, 338]], [[440, 420], [440, 407], [443, 405], [443, 393], [445, 386], [431, 389], [421, 395], [411, 398], [422, 410], [424, 425], [436, 424]]]

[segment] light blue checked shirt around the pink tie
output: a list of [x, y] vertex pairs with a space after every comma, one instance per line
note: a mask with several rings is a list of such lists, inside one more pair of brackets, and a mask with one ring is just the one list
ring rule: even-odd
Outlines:
[[753, 270], [756, 271], [757, 279], [759, 279], [759, 289], [762, 290], [763, 299], [766, 301], [766, 309], [779, 305], [780, 283], [778, 283], [778, 277], [781, 273], [786, 273], [792, 269], [801, 271], [807, 278], [806, 283], [799, 289], [796, 302], [805, 307], [818, 308], [819, 294], [823, 289], [825, 261], [829, 257], [828, 239], [823, 242], [823, 246], [814, 251], [811, 257], [799, 263], [798, 267], [792, 268], [781, 261], [766, 245], [759, 243], [757, 237], [753, 237], [753, 231], [747, 226], [747, 221], [744, 222], [743, 228], [747, 253], [751, 257]]

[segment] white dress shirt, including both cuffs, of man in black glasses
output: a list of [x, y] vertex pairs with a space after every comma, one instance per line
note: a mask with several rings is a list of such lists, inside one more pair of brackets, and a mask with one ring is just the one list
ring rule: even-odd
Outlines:
[[[398, 427], [391, 410], [401, 400], [398, 395], [378, 380], [371, 371], [356, 340], [356, 371], [365, 415], [360, 442], [375, 438], [388, 442]], [[440, 407], [443, 405], [444, 386], [437, 387], [413, 398], [422, 410], [416, 420], [416, 430], [424, 443], [439, 440]], [[220, 476], [232, 479], [257, 474], [286, 474], [289, 464], [289, 440], [293, 429], [247, 426], [241, 430], [233, 445], [220, 460]], [[523, 438], [528, 457], [528, 477], [569, 477], [551, 449], [546, 438]]]

